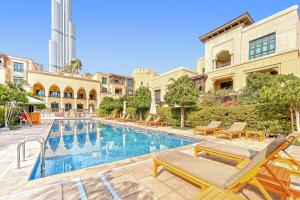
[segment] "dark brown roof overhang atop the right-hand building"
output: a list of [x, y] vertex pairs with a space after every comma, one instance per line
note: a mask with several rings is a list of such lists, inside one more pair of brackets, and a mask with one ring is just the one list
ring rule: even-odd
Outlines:
[[199, 39], [201, 42], [205, 42], [208, 39], [216, 37], [217, 35], [220, 35], [220, 34], [224, 33], [225, 31], [228, 31], [238, 25], [249, 26], [253, 23], [254, 23], [254, 20], [252, 19], [250, 14], [248, 12], [245, 12], [242, 15], [232, 19], [231, 21], [223, 24], [222, 26], [219, 26], [218, 28], [200, 36]]

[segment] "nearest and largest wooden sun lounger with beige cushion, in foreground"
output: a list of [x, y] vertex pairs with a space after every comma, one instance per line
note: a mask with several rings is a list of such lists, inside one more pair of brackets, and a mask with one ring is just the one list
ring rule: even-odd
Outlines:
[[[195, 158], [178, 151], [166, 152], [153, 158], [153, 175], [157, 177], [158, 167], [162, 166], [200, 186], [201, 190], [213, 186], [233, 193], [239, 191], [246, 184], [252, 184], [262, 192], [267, 200], [271, 200], [272, 198], [257, 180], [256, 175], [262, 167], [268, 169], [268, 162], [282, 150], [285, 142], [285, 137], [279, 135], [242, 169], [205, 158]], [[288, 193], [288, 190], [286, 192]]]

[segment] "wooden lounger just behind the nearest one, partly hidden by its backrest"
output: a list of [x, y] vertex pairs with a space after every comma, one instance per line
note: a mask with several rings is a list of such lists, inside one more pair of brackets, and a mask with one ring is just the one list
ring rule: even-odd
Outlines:
[[[291, 156], [286, 149], [294, 142], [299, 134], [292, 133], [286, 137], [286, 142], [282, 146], [280, 153], [276, 154], [272, 160], [287, 165], [290, 173], [300, 177], [300, 161], [296, 160]], [[199, 153], [212, 154], [215, 156], [223, 157], [229, 160], [236, 161], [237, 168], [243, 167], [249, 160], [251, 160], [259, 151], [246, 149], [242, 147], [218, 144], [211, 141], [201, 142], [194, 146], [194, 155], [197, 157]]]

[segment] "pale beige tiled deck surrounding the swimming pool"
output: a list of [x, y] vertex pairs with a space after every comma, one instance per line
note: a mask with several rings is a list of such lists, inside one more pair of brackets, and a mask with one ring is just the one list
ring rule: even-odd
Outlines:
[[[122, 124], [115, 122], [117, 124]], [[46, 138], [50, 130], [50, 122], [20, 130], [0, 132], [0, 199], [191, 199], [199, 188], [193, 184], [161, 170], [157, 178], [152, 176], [152, 155], [129, 158], [114, 163], [90, 167], [55, 176], [49, 176], [33, 181], [28, 177], [36, 161], [39, 145], [31, 142], [26, 145], [26, 161], [21, 169], [16, 167], [17, 144], [28, 136]], [[122, 124], [137, 126], [133, 123]], [[264, 142], [234, 139], [233, 141], [216, 139], [213, 136], [202, 137], [193, 135], [191, 130], [177, 130], [170, 127], [151, 128], [149, 130], [178, 134], [184, 137], [214, 140], [220, 144], [231, 144], [254, 150], [262, 149], [270, 140]], [[179, 147], [187, 154], [193, 153], [193, 145]], [[300, 160], [300, 148], [291, 146], [289, 152]], [[217, 159], [210, 156], [210, 159]], [[220, 160], [226, 164], [232, 161]], [[295, 184], [300, 180], [293, 180]], [[247, 186], [240, 195], [248, 199], [263, 199], [260, 193], [251, 186]], [[274, 196], [274, 199], [279, 197]]]

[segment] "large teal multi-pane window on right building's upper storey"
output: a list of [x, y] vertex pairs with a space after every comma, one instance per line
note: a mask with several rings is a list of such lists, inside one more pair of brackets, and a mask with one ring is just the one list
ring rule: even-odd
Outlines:
[[275, 53], [276, 35], [272, 33], [249, 42], [249, 59]]

